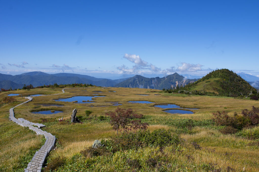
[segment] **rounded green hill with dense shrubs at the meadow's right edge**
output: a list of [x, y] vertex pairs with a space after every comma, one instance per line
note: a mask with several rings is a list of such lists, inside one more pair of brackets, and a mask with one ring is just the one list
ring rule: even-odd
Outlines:
[[220, 96], [230, 97], [247, 96], [256, 92], [256, 89], [247, 81], [228, 69], [210, 72], [198, 81], [186, 85], [184, 88], [190, 92], [213, 92]]

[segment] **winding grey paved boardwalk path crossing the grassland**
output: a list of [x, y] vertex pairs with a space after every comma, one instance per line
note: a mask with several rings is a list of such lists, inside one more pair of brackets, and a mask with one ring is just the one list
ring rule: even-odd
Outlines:
[[[64, 89], [62, 89], [62, 93], [65, 93]], [[58, 94], [52, 94], [52, 95], [58, 95]], [[32, 97], [25, 97], [25, 98], [28, 99], [26, 102], [18, 104], [15, 107], [20, 106], [24, 103], [28, 103], [33, 99]], [[46, 138], [45, 144], [41, 146], [40, 150], [34, 154], [31, 162], [29, 162], [27, 168], [24, 169], [25, 172], [41, 172], [41, 168], [44, 165], [49, 152], [54, 148], [56, 137], [53, 136], [51, 133], [42, 131], [40, 128], [45, 127], [45, 125], [43, 124], [32, 123], [23, 118], [16, 119], [13, 113], [13, 109], [15, 107], [10, 109], [10, 115], [9, 115], [10, 121], [13, 121], [16, 124], [24, 127], [29, 127], [30, 130], [35, 131], [37, 134], [44, 135], [44, 137]], [[38, 128], [35, 126], [38, 126]]]

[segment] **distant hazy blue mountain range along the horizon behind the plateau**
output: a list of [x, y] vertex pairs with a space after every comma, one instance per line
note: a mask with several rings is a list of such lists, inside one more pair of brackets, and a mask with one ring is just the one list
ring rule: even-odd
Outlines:
[[[259, 78], [247, 73], [239, 73], [239, 75], [249, 84], [255, 88], [259, 88]], [[178, 86], [185, 86], [193, 83], [198, 79], [186, 79], [185, 77], [174, 73], [165, 77], [146, 78], [140, 75], [135, 75], [123, 79], [106, 79], [95, 78], [88, 75], [74, 74], [74, 73], [56, 73], [48, 74], [44, 72], [27, 72], [19, 75], [9, 75], [0, 73], [0, 88], [12, 89], [22, 88], [25, 85], [32, 84], [34, 87], [43, 85], [57, 84], [73, 84], [86, 83], [103, 87], [131, 87], [131, 88], [152, 88], [163, 89]]]

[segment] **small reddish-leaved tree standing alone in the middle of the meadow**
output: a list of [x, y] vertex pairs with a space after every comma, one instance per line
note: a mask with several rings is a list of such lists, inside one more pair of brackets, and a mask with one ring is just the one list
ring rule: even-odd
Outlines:
[[[121, 109], [117, 108], [114, 112], [106, 112], [105, 115], [111, 117], [110, 124], [112, 125], [113, 130], [117, 131], [121, 129], [124, 132], [128, 132], [130, 130], [138, 130], [143, 129], [146, 130], [148, 123], [142, 123], [141, 118], [143, 117], [142, 114], [135, 114], [132, 109]], [[136, 119], [137, 118], [137, 119]]]

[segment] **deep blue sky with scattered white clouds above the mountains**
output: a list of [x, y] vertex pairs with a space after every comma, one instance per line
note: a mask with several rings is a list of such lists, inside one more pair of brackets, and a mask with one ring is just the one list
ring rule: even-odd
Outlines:
[[0, 1], [0, 73], [259, 76], [259, 1]]

